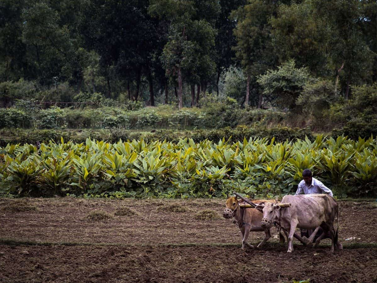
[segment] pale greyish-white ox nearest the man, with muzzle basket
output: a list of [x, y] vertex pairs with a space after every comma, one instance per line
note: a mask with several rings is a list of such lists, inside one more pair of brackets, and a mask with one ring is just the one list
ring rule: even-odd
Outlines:
[[[326, 194], [285, 195], [282, 203], [291, 203], [290, 208], [280, 208], [273, 203], [260, 204], [256, 208], [263, 211], [261, 226], [270, 228], [274, 221], [280, 221], [288, 238], [288, 252], [293, 251], [293, 233], [296, 229], [315, 229], [309, 241], [314, 238], [319, 227], [323, 229], [322, 235], [316, 240], [316, 246], [323, 236], [329, 232], [331, 237], [331, 252], [334, 252], [334, 243], [338, 249], [342, 245], [338, 241], [338, 231], [334, 230], [335, 215], [338, 214], [338, 204], [333, 197]], [[339, 218], [338, 218], [339, 228]]]

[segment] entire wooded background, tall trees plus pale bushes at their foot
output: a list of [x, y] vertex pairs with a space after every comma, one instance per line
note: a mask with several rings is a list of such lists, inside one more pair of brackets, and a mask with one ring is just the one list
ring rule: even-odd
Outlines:
[[[377, 112], [376, 8], [368, 0], [3, 0], [0, 104], [8, 109], [0, 126], [193, 129], [262, 121], [369, 137]], [[99, 110], [74, 111], [84, 106]], [[184, 116], [183, 125], [174, 115]]]

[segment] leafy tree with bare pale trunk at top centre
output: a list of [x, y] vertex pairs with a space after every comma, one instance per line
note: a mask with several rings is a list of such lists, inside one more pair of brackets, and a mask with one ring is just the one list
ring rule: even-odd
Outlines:
[[[203, 8], [205, 7], [205, 8]], [[178, 79], [178, 107], [182, 102], [182, 74], [190, 72], [191, 80], [211, 72], [213, 63], [210, 46], [214, 45], [215, 32], [208, 21], [216, 14], [213, 1], [152, 0], [150, 14], [169, 21], [169, 37], [161, 60], [168, 77]], [[189, 77], [189, 76], [188, 76]]]

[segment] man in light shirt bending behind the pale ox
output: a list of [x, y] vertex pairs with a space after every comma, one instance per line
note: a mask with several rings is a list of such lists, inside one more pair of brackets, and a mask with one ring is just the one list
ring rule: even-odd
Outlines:
[[[313, 174], [309, 169], [305, 169], [302, 171], [302, 178], [303, 180], [300, 181], [299, 187], [297, 188], [295, 195], [300, 194], [328, 194], [330, 197], [333, 196], [333, 192], [327, 188], [321, 181], [318, 181], [317, 179], [313, 178]], [[311, 233], [313, 233], [313, 230], [306, 230], [306, 229], [300, 229], [301, 231], [301, 237], [305, 236], [307, 238], [310, 237]], [[319, 228], [316, 236], [313, 239], [313, 243], [317, 240], [317, 238], [322, 234], [322, 228]], [[326, 235], [325, 238], [327, 238], [329, 235]]]

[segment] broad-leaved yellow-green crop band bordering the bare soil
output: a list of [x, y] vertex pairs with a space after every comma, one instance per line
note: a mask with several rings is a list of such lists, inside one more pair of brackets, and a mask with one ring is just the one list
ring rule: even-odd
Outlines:
[[373, 196], [377, 144], [371, 137], [231, 143], [87, 139], [0, 148], [0, 193], [83, 197], [274, 197], [296, 191], [310, 168], [338, 197]]

